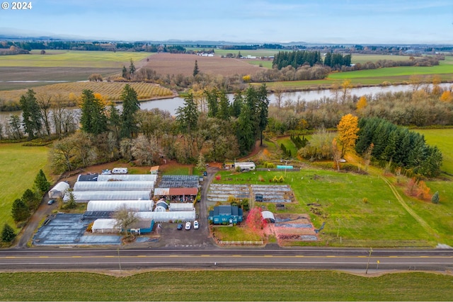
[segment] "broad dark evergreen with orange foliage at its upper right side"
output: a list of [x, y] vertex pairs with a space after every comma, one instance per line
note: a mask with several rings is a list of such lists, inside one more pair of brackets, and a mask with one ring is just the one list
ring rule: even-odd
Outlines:
[[107, 130], [105, 105], [88, 89], [82, 91], [80, 123], [81, 129], [86, 133], [97, 135]]

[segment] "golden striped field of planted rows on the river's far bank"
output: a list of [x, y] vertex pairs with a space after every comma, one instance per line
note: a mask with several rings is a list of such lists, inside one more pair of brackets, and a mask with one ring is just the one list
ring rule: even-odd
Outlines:
[[[70, 95], [79, 97], [84, 89], [90, 89], [93, 93], [101, 93], [106, 100], [120, 100], [122, 89], [127, 83], [122, 82], [73, 82], [57, 83], [47, 86], [35, 87], [33, 91], [47, 95], [62, 95], [63, 98], [71, 99]], [[168, 88], [164, 88], [154, 83], [129, 83], [137, 92], [139, 100], [149, 100], [155, 98], [172, 98], [174, 93]], [[18, 102], [21, 95], [27, 92], [26, 89], [14, 91], [3, 91], [1, 98], [7, 101]]]

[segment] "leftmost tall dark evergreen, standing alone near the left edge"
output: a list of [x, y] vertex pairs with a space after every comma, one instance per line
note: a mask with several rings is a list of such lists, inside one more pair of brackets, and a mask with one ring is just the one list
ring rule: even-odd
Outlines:
[[21, 104], [22, 124], [25, 132], [28, 134], [28, 139], [34, 139], [35, 135], [41, 131], [43, 120], [35, 91], [28, 89], [27, 93], [21, 96], [19, 103]]

